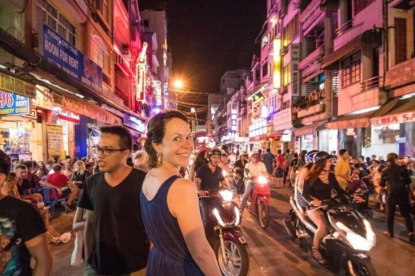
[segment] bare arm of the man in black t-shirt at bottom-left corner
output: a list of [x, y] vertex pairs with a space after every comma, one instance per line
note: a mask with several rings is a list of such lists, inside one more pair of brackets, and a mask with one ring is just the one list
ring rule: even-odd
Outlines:
[[40, 234], [24, 243], [30, 255], [36, 260], [34, 276], [49, 275], [52, 269], [52, 255], [47, 247], [46, 234]]

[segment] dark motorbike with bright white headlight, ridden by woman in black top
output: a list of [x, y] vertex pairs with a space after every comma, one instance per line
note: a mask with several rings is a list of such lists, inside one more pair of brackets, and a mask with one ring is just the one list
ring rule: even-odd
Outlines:
[[[293, 241], [299, 239], [299, 246], [312, 255], [312, 244], [317, 227], [306, 212], [290, 198], [292, 209], [290, 220], [284, 219], [287, 234]], [[355, 200], [347, 195], [336, 195], [323, 200], [321, 209], [328, 221], [328, 234], [320, 244], [320, 252], [326, 259], [327, 269], [337, 275], [373, 276], [376, 270], [368, 252], [376, 244], [371, 224], [354, 209]]]

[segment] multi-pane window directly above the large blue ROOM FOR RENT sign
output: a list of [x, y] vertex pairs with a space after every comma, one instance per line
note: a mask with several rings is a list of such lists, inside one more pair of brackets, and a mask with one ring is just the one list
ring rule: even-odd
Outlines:
[[37, 17], [76, 46], [76, 28], [54, 6], [45, 0], [37, 1]]

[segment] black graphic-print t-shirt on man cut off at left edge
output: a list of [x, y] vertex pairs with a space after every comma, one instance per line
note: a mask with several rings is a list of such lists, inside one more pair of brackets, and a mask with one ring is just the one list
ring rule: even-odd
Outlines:
[[32, 275], [24, 243], [45, 232], [35, 205], [13, 196], [0, 199], [0, 275]]

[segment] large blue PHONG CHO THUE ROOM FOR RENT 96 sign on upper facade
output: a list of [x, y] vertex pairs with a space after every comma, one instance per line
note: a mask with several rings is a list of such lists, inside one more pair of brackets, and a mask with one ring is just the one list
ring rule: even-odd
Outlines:
[[102, 94], [102, 68], [67, 42], [60, 34], [43, 24], [42, 54], [66, 73]]

